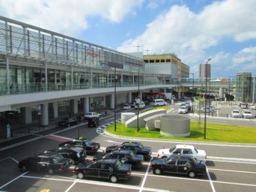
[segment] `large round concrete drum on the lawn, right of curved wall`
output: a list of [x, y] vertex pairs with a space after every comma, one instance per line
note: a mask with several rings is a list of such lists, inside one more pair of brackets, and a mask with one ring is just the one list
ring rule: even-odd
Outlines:
[[190, 136], [190, 119], [186, 116], [162, 116], [160, 134], [172, 137]]

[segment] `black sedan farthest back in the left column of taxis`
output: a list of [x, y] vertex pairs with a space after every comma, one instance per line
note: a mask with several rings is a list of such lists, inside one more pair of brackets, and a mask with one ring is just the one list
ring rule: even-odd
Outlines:
[[62, 142], [59, 147], [82, 147], [86, 150], [86, 153], [95, 153], [100, 149], [100, 144], [90, 139], [80, 137], [72, 141]]

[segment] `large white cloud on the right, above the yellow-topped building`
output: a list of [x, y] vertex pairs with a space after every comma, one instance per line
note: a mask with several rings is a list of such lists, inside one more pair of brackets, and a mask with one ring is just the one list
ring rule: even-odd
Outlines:
[[171, 6], [147, 24], [145, 32], [123, 42], [119, 51], [134, 52], [140, 42], [147, 50], [175, 52], [187, 64], [203, 62], [205, 51], [225, 39], [256, 39], [256, 1], [213, 1], [200, 12], [187, 6]]

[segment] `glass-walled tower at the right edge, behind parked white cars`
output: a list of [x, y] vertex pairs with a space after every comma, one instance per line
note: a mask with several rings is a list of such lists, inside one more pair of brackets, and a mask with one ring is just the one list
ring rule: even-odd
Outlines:
[[254, 94], [252, 73], [237, 73], [235, 82], [236, 100], [247, 103], [252, 102]]

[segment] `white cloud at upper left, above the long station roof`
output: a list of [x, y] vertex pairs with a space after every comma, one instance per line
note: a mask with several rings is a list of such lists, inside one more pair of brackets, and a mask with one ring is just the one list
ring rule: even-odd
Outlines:
[[120, 23], [142, 0], [0, 0], [0, 14], [18, 21], [76, 35], [88, 28], [89, 17]]

